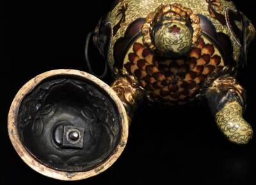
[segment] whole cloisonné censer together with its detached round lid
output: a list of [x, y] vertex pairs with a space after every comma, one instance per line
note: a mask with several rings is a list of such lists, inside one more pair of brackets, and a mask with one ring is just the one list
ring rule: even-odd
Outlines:
[[37, 172], [75, 181], [109, 168], [145, 99], [166, 107], [206, 101], [230, 142], [253, 137], [236, 74], [255, 29], [232, 1], [115, 1], [86, 41], [89, 70], [91, 36], [113, 74], [110, 87], [83, 71], [54, 70], [33, 78], [13, 100], [10, 139]]

